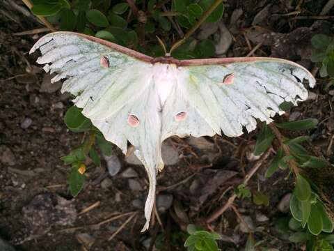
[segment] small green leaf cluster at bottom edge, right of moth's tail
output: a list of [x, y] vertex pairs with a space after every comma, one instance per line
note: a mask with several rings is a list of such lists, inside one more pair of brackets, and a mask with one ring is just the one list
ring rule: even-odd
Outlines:
[[216, 240], [221, 240], [221, 236], [214, 232], [209, 232], [196, 227], [195, 225], [188, 225], [186, 231], [189, 237], [186, 238], [184, 247], [189, 251], [218, 251], [218, 244]]

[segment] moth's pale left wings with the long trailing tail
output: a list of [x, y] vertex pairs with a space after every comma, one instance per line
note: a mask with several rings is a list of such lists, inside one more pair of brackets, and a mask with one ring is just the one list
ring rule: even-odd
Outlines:
[[[42, 56], [38, 63], [47, 63], [45, 70], [58, 73], [52, 81], [66, 78], [61, 91], [76, 96], [74, 104], [83, 108], [82, 113], [107, 140], [124, 153], [127, 141], [135, 146], [135, 153], [143, 162], [150, 181], [145, 204], [147, 223], [144, 229], [147, 229], [154, 203], [157, 162], [162, 161], [161, 117], [152, 84], [152, 65], [147, 62], [148, 56], [94, 40], [77, 33], [50, 33], [38, 40], [31, 52], [39, 49]], [[108, 68], [101, 65], [102, 56], [108, 59]], [[136, 128], [127, 123], [129, 115], [138, 118]]]

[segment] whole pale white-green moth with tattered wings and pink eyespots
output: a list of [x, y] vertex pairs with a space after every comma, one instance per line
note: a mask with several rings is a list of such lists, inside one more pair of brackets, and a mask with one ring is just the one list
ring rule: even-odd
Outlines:
[[76, 98], [104, 135], [127, 153], [127, 142], [145, 167], [150, 181], [145, 203], [148, 229], [154, 204], [156, 175], [164, 168], [161, 142], [170, 136], [237, 137], [256, 120], [271, 123], [283, 114], [284, 101], [297, 105], [308, 97], [303, 85], [315, 86], [308, 70], [284, 59], [240, 57], [177, 60], [152, 58], [105, 40], [72, 32], [40, 38], [30, 53], [51, 82], [66, 79], [62, 92]]

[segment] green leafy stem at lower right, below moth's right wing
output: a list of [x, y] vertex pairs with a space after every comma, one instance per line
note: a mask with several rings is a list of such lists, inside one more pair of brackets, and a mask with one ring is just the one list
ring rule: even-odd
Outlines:
[[[317, 126], [316, 119], [304, 119], [287, 123], [276, 123], [276, 128], [285, 130], [307, 130]], [[255, 154], [261, 154], [271, 146], [274, 133], [266, 124], [262, 125], [260, 135], [257, 137]], [[318, 236], [321, 232], [331, 233], [333, 222], [328, 217], [324, 204], [317, 194], [317, 187], [304, 174], [307, 168], [326, 167], [326, 160], [311, 155], [302, 143], [309, 137], [301, 136], [294, 139], [282, 139], [282, 144], [273, 158], [265, 176], [269, 178], [277, 169], [288, 169], [294, 165], [291, 171], [295, 176], [295, 186], [290, 199], [290, 211], [295, 222], [301, 229], [307, 225], [308, 234]], [[289, 154], [287, 154], [289, 153]]]

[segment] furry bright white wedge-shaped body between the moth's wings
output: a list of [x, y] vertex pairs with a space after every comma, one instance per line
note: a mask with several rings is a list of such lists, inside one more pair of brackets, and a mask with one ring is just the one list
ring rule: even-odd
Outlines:
[[172, 87], [176, 84], [177, 66], [172, 63], [154, 63], [153, 80], [157, 88], [160, 107], [164, 107]]

